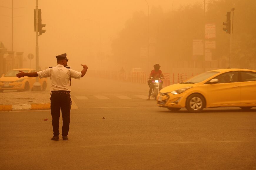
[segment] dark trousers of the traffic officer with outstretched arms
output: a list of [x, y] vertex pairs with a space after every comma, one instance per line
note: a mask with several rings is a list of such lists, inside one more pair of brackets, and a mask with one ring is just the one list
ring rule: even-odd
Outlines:
[[62, 136], [69, 133], [70, 93], [68, 91], [53, 91], [51, 93], [51, 117], [53, 135], [59, 135], [59, 115], [62, 113]]

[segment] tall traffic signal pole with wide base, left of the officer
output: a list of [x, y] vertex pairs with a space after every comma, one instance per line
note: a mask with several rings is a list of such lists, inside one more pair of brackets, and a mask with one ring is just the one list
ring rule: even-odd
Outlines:
[[[38, 0], [36, 0], [36, 15], [35, 15], [35, 21], [36, 21], [36, 72], [38, 72], [39, 67], [39, 57], [38, 57]], [[32, 91], [41, 91], [41, 85], [38, 81], [38, 77], [36, 77], [36, 82], [33, 84]]]

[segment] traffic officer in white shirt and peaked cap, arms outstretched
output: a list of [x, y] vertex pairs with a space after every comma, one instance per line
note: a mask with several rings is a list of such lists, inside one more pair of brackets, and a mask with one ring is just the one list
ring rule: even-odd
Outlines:
[[52, 128], [53, 137], [51, 140], [59, 140], [59, 116], [60, 110], [62, 113], [62, 139], [68, 140], [69, 133], [69, 122], [70, 122], [70, 108], [71, 108], [71, 98], [70, 98], [70, 85], [71, 78], [80, 79], [84, 77], [87, 72], [87, 65], [82, 65], [83, 70], [81, 72], [75, 71], [67, 67], [67, 54], [61, 54], [56, 56], [57, 65], [55, 67], [47, 68], [39, 72], [24, 73], [19, 71], [16, 77], [21, 78], [24, 76], [28, 77], [39, 77], [51, 79], [51, 117], [52, 117]]

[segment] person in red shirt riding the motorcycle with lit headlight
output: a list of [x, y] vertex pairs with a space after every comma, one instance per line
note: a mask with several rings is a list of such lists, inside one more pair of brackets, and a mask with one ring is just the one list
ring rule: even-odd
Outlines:
[[[152, 90], [154, 88], [154, 81], [152, 81], [152, 77], [154, 78], [154, 80], [158, 80], [160, 77], [162, 77], [164, 79], [164, 75], [162, 73], [162, 71], [160, 70], [160, 65], [159, 64], [155, 64], [154, 65], [154, 70], [151, 71], [150, 76], [149, 76], [149, 80], [147, 81], [148, 86], [149, 86], [149, 92], [148, 92], [148, 98], [147, 100], [150, 100], [150, 96], [152, 93]], [[163, 85], [163, 81], [159, 83], [159, 90], [162, 89], [162, 85]]]

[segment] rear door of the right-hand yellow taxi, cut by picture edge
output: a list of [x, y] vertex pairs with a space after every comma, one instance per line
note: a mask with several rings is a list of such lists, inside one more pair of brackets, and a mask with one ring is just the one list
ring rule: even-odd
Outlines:
[[241, 71], [241, 103], [256, 104], [256, 72]]

